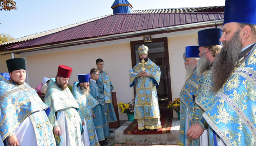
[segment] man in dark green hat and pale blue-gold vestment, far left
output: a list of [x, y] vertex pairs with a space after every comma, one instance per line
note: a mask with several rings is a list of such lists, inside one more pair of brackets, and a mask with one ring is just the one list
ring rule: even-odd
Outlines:
[[[0, 135], [8, 146], [55, 146], [50, 108], [25, 82], [25, 59], [6, 60], [10, 80], [0, 75]], [[1, 145], [1, 144], [0, 144]]]

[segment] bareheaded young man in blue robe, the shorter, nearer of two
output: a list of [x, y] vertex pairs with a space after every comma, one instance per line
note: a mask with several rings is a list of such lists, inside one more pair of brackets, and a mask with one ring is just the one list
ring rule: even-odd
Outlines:
[[96, 81], [99, 79], [99, 71], [97, 69], [91, 69], [91, 80], [90, 80], [90, 93], [91, 95], [98, 101], [98, 105], [92, 108], [95, 118], [94, 118], [94, 126], [97, 132], [98, 140], [100, 145], [107, 145], [106, 141], [108, 137], [110, 137], [110, 129], [108, 126], [107, 120], [107, 110], [105, 108], [105, 96], [100, 93]]

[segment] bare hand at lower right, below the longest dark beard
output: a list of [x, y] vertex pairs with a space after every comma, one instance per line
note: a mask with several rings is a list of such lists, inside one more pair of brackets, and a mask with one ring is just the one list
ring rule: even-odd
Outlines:
[[193, 124], [190, 128], [188, 128], [187, 130], [187, 137], [189, 137], [190, 139], [198, 139], [198, 137], [200, 135], [203, 134], [203, 129], [199, 126], [198, 123]]

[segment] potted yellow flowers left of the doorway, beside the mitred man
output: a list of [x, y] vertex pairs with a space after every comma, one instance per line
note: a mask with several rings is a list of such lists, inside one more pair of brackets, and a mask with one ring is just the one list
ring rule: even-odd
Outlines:
[[117, 104], [121, 113], [127, 113], [128, 121], [134, 121], [134, 104], [135, 104], [134, 99], [132, 99], [132, 102], [128, 102], [128, 103], [121, 102]]

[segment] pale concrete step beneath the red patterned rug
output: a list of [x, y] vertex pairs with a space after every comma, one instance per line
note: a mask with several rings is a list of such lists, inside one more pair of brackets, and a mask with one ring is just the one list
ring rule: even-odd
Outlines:
[[180, 120], [172, 119], [171, 133], [166, 134], [142, 134], [142, 135], [132, 135], [132, 134], [123, 134], [123, 131], [132, 123], [127, 121], [117, 130], [115, 130], [115, 139], [116, 143], [135, 143], [135, 142], [156, 142], [156, 141], [172, 141], [175, 142], [178, 140], [178, 132], [180, 130]]

